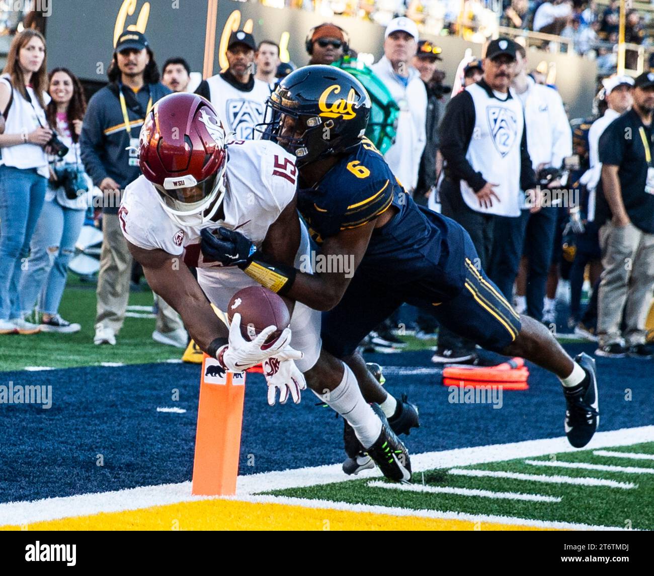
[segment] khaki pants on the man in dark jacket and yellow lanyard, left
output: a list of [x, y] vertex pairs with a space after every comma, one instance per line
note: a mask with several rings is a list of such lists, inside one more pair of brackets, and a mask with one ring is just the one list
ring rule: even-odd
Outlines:
[[[97, 276], [97, 316], [95, 324], [111, 328], [116, 334], [125, 321], [131, 278], [131, 254], [120, 230], [117, 214], [102, 215], [102, 251]], [[183, 328], [179, 314], [163, 298], [155, 295], [158, 304], [156, 329], [173, 332]]]

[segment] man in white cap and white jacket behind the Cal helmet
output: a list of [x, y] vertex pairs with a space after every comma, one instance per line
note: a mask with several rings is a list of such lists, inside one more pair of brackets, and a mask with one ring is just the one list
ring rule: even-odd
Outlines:
[[413, 194], [426, 140], [427, 91], [411, 67], [417, 51], [418, 27], [409, 18], [395, 18], [385, 32], [384, 56], [371, 69], [400, 106], [395, 143], [384, 155], [393, 174]]

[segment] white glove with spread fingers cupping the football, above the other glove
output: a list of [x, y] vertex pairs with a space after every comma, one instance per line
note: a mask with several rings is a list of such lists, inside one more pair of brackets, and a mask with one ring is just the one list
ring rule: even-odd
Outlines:
[[275, 330], [277, 330], [276, 326], [269, 326], [262, 330], [252, 342], [245, 340], [241, 334], [241, 314], [237, 312], [233, 315], [230, 325], [229, 344], [218, 350], [216, 359], [232, 372], [243, 372], [273, 355], [280, 360], [301, 359], [303, 353], [290, 347], [290, 328], [284, 328], [273, 345], [265, 350], [261, 348]]

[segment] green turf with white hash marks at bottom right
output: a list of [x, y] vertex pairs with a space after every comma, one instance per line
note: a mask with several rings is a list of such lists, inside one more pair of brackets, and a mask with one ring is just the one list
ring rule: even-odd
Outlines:
[[[628, 447], [610, 448], [611, 451], [654, 454], [654, 443], [642, 443]], [[277, 496], [308, 498], [312, 500], [333, 500], [349, 504], [368, 504], [394, 506], [409, 509], [433, 509], [455, 511], [468, 514], [510, 516], [524, 519], [575, 522], [617, 528], [654, 529], [654, 508], [645, 503], [654, 502], [654, 474], [633, 474], [623, 472], [599, 472], [596, 470], [576, 470], [571, 468], [552, 468], [532, 466], [525, 460], [556, 460], [562, 462], [587, 462], [610, 464], [612, 466], [632, 466], [651, 468], [653, 460], [634, 460], [595, 456], [593, 451], [561, 453], [505, 460], [475, 466], [458, 466], [478, 470], [504, 470], [538, 475], [562, 475], [573, 477], [593, 477], [630, 482], [638, 488], [625, 490], [610, 487], [589, 487], [569, 484], [543, 483], [504, 478], [475, 478], [457, 476], [445, 470], [424, 472], [424, 484], [438, 487], [460, 487], [491, 490], [493, 492], [521, 492], [523, 494], [542, 494], [560, 496], [560, 502], [525, 502], [519, 500], [500, 500], [480, 496], [458, 494], [429, 494], [425, 492], [406, 492], [386, 488], [369, 487], [370, 479], [345, 481], [305, 488], [288, 488], [266, 492]], [[421, 473], [414, 474], [413, 483], [421, 484]]]

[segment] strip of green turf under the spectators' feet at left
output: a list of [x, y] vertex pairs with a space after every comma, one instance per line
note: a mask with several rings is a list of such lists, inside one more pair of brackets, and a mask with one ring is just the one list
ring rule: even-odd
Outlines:
[[[0, 371], [22, 370], [26, 366], [69, 368], [100, 362], [143, 364], [181, 358], [181, 349], [152, 340], [154, 318], [127, 318], [115, 346], [94, 345], [95, 285], [82, 283], [72, 274], [70, 278], [59, 312], [69, 322], [82, 325], [82, 330], [77, 334], [0, 336]], [[152, 301], [152, 292], [147, 289], [129, 295], [129, 304], [150, 306]]]

